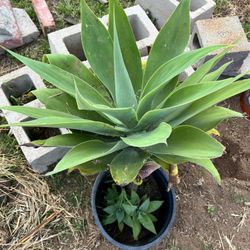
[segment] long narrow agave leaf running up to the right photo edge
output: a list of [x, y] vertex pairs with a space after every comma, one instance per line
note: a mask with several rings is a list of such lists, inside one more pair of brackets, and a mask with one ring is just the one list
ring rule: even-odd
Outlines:
[[226, 86], [212, 94], [209, 94], [195, 101], [194, 103], [192, 103], [192, 105], [190, 105], [190, 107], [186, 108], [181, 115], [169, 121], [169, 123], [172, 127], [176, 127], [186, 120], [192, 118], [193, 116], [199, 114], [200, 112], [214, 106], [215, 104], [248, 89], [250, 89], [249, 79], [231, 83], [229, 86]]

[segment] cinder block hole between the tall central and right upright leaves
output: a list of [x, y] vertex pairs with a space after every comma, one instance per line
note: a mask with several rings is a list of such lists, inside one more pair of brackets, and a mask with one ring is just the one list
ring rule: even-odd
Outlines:
[[145, 25], [137, 15], [131, 15], [128, 16], [128, 18], [133, 29], [136, 41], [142, 40], [150, 35]]

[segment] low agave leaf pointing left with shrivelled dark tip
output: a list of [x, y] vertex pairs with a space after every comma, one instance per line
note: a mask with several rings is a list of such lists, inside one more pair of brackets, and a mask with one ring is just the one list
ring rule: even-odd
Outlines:
[[32, 141], [31, 144], [41, 147], [74, 147], [82, 142], [92, 140], [93, 136], [73, 133], [52, 136], [45, 140]]

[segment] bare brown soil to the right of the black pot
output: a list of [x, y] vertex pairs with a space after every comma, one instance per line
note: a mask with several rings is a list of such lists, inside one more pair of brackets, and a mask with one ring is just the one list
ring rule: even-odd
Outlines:
[[[241, 112], [239, 99], [221, 105]], [[231, 119], [218, 130], [217, 139], [226, 146], [226, 153], [214, 161], [221, 186], [197, 166], [180, 166], [176, 223], [156, 249], [250, 249], [250, 121]]]

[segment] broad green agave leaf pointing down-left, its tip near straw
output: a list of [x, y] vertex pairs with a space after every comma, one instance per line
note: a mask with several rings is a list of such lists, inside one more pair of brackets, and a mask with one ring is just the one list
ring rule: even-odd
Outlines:
[[100, 140], [91, 140], [80, 143], [71, 149], [59, 161], [53, 171], [47, 173], [46, 175], [55, 174], [83, 163], [98, 159], [119, 151], [125, 147], [126, 145], [121, 141], [103, 142]]

